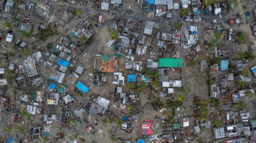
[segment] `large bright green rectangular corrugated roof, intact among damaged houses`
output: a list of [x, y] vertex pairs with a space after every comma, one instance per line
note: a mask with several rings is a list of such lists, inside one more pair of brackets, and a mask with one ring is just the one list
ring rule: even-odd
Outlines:
[[182, 67], [182, 59], [161, 58], [158, 67]]

